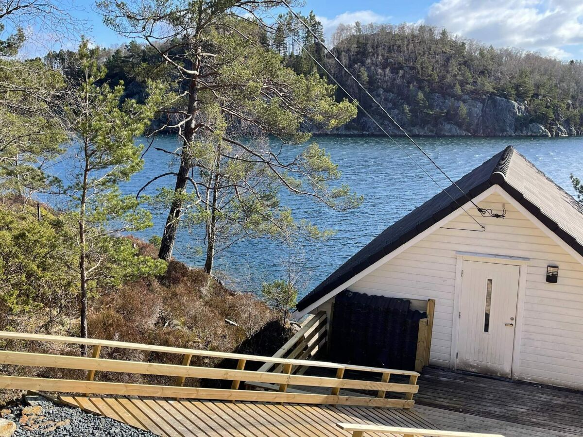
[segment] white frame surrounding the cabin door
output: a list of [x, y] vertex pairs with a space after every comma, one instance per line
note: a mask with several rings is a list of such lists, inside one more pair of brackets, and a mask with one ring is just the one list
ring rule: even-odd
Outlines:
[[457, 368], [457, 354], [459, 341], [459, 302], [462, 292], [462, 269], [463, 261], [475, 261], [493, 264], [505, 264], [511, 266], [518, 266], [518, 296], [516, 306], [516, 319], [514, 330], [514, 343], [512, 344], [512, 367], [510, 370], [510, 378], [517, 379], [516, 370], [520, 362], [520, 343], [522, 339], [522, 315], [524, 313], [524, 300], [526, 295], [526, 270], [528, 267], [528, 258], [516, 259], [516, 257], [507, 255], [489, 255], [476, 253], [475, 255], [463, 255], [456, 253], [455, 266], [455, 291], [454, 291], [454, 313], [452, 314], [453, 323], [451, 329], [451, 356], [449, 357], [449, 368]]

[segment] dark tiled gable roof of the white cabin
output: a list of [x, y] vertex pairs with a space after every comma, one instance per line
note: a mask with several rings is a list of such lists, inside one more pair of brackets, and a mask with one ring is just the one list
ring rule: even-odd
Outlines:
[[[514, 147], [506, 147], [459, 179], [456, 184], [472, 199], [490, 186], [500, 185], [546, 227], [583, 255], [582, 206], [573, 196], [514, 150]], [[338, 267], [336, 272], [305, 295], [296, 308], [298, 311], [307, 308], [467, 201], [468, 199], [454, 185], [444, 189], [382, 231], [378, 237]]]

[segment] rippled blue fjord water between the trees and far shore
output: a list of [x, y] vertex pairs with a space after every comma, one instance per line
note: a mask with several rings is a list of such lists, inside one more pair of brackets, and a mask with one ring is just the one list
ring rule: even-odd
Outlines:
[[[336, 212], [310, 199], [290, 195], [282, 191], [282, 204], [293, 210], [294, 217], [305, 218], [320, 228], [338, 231], [325, 242], [304, 245], [305, 266], [303, 271], [310, 280], [301, 290], [305, 294], [325, 279], [336, 267], [350, 258], [388, 225], [421, 205], [441, 191], [410, 158], [388, 138], [365, 136], [322, 136], [313, 139], [331, 154], [342, 171], [340, 183], [364, 196], [363, 204], [347, 212]], [[178, 146], [174, 136], [163, 136], [156, 146], [174, 150]], [[569, 175], [583, 177], [583, 137], [569, 138], [417, 138], [416, 141], [454, 180], [483, 163], [508, 145], [514, 146], [541, 171], [557, 184], [574, 194]], [[445, 188], [447, 179], [426, 157], [404, 138], [399, 144], [415, 158], [431, 177]], [[285, 146], [283, 157], [291, 158], [299, 153], [299, 146]], [[176, 168], [171, 156], [150, 149], [143, 170], [122, 186], [124, 192], [136, 193], [150, 178]], [[284, 159], [285, 160], [285, 159]], [[160, 186], [174, 186], [172, 176], [159, 179], [146, 192], [154, 194]], [[149, 238], [161, 235], [166, 216], [154, 216], [154, 227], [139, 234]], [[189, 265], [201, 266], [204, 258], [200, 251], [204, 233], [181, 230], [174, 249], [174, 256]], [[286, 277], [282, 270], [282, 258], [286, 251], [281, 245], [265, 239], [243, 241], [219, 253], [217, 272], [223, 272], [235, 287], [250, 290], [261, 281]]]

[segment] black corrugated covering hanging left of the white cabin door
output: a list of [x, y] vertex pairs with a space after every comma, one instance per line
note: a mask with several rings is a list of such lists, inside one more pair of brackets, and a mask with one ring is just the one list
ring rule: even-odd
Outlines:
[[392, 369], [415, 368], [419, 320], [411, 302], [345, 290], [336, 295], [330, 329], [335, 362]]

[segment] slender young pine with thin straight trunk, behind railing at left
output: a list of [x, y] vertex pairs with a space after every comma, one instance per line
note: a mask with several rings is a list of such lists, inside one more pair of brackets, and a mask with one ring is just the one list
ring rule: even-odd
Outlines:
[[[110, 272], [104, 253], [110, 245], [103, 237], [115, 232], [137, 231], [151, 225], [150, 213], [138, 209], [135, 196], [122, 196], [118, 184], [142, 168], [142, 146], [134, 138], [142, 134], [160, 103], [162, 89], [152, 84], [146, 104], [121, 103], [122, 84], [111, 89], [98, 85], [106, 70], [97, 62], [99, 48], [79, 46], [78, 65], [82, 82], [68, 93], [65, 114], [71, 126], [76, 165], [72, 165], [69, 213], [77, 226], [81, 336], [87, 333], [87, 298], [92, 284]], [[113, 226], [115, 223], [115, 226]]]

